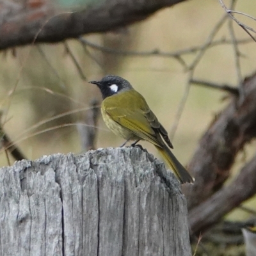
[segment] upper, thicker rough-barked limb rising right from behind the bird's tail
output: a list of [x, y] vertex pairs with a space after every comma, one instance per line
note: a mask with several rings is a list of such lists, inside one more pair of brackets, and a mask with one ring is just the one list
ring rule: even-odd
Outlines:
[[194, 186], [183, 186], [189, 210], [223, 186], [237, 153], [256, 136], [256, 74], [247, 78], [243, 86], [243, 104], [232, 97], [205, 132], [189, 163], [188, 169], [195, 177]]

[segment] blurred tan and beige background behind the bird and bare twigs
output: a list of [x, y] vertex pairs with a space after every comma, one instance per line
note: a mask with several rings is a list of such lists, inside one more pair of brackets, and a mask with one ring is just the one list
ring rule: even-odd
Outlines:
[[[83, 8], [83, 1], [71, 2], [59, 1], [54, 8], [60, 8], [61, 12]], [[253, 0], [237, 1], [236, 10], [256, 17]], [[60, 44], [40, 44], [2, 51], [0, 104], [4, 131], [32, 160], [58, 152], [83, 152], [77, 124], [85, 125], [90, 102], [97, 99], [100, 104], [101, 100], [98, 89], [88, 81], [115, 74], [130, 81], [145, 97], [170, 132], [173, 152], [186, 165], [202, 134], [228, 104], [227, 93], [196, 84], [189, 85], [188, 70], [180, 60], [168, 56], [168, 53], [186, 50], [186, 54], [181, 56], [189, 67], [198, 53], [192, 48], [202, 47], [209, 40], [212, 29], [223, 15], [225, 12], [218, 1], [185, 1], [132, 26], [84, 36], [85, 44], [78, 40], [67, 40]], [[239, 20], [255, 28], [252, 19], [241, 15]], [[243, 29], [236, 24], [234, 29], [237, 38], [248, 40]], [[230, 40], [228, 22], [214, 37], [214, 41], [224, 39]], [[256, 46], [253, 41], [248, 42], [239, 45], [243, 57], [243, 77], [252, 74], [256, 67]], [[207, 48], [193, 70], [193, 78], [237, 86], [233, 45], [225, 43]], [[180, 102], [186, 94], [188, 98], [178, 122]], [[97, 148], [118, 147], [124, 142], [107, 129], [101, 116], [97, 128]], [[158, 157], [154, 147], [148, 143], [141, 145]], [[244, 148], [237, 158], [237, 170], [245, 160], [250, 159], [253, 148], [255, 141]], [[3, 150], [0, 164], [8, 165]], [[255, 200], [245, 205], [255, 208]], [[227, 218], [244, 220], [249, 215], [236, 210]]]

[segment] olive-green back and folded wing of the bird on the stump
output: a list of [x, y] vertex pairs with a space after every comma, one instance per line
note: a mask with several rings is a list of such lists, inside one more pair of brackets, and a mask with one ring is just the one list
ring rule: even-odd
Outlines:
[[[141, 140], [163, 147], [163, 140], [158, 131], [163, 126], [158, 122], [154, 113], [150, 111], [147, 102], [140, 93], [134, 90], [129, 91], [129, 93], [124, 98], [118, 97], [120, 95], [106, 98], [102, 103], [102, 108], [116, 123], [136, 134]], [[120, 108], [120, 106], [122, 107]]]

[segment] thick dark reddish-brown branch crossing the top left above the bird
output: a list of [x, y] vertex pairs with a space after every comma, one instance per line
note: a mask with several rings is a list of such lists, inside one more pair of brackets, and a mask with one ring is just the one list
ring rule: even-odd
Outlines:
[[[89, 6], [81, 12], [52, 15], [51, 8], [36, 10], [29, 6], [24, 15], [0, 13], [0, 50], [34, 42], [61, 42], [67, 38], [113, 30], [144, 20], [161, 8], [186, 0], [107, 0], [100, 6]], [[4, 10], [4, 3], [1, 6]], [[10, 8], [10, 6], [9, 6]], [[12, 13], [11, 13], [12, 14]]]

